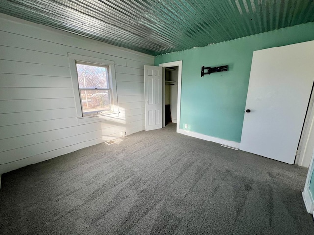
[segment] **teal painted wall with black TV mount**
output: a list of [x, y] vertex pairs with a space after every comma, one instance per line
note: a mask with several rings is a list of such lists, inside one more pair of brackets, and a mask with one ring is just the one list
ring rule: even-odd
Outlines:
[[[155, 65], [182, 60], [181, 129], [240, 142], [253, 51], [310, 40], [313, 22], [156, 56]], [[203, 65], [229, 69], [201, 77]]]

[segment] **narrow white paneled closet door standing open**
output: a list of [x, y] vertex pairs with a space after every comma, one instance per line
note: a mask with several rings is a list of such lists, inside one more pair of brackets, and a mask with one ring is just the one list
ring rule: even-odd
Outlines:
[[162, 67], [144, 65], [145, 130], [162, 128]]

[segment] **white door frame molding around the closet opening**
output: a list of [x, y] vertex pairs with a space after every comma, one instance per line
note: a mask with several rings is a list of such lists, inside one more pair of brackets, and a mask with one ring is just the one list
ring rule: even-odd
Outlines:
[[[163, 68], [178, 66], [178, 97], [177, 97], [177, 130], [180, 129], [180, 107], [181, 107], [181, 79], [182, 79], [182, 60], [159, 64]], [[162, 94], [162, 127], [165, 127], [165, 78], [163, 78], [163, 94]]]

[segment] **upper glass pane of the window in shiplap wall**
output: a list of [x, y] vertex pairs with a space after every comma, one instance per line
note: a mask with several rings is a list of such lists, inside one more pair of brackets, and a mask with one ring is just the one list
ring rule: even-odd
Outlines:
[[77, 63], [79, 88], [109, 88], [108, 67]]

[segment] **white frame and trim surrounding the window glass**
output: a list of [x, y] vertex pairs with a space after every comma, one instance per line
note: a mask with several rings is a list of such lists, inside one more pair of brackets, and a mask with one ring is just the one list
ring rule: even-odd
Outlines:
[[[68, 53], [69, 58], [69, 66], [71, 72], [71, 79], [73, 85], [73, 94], [75, 99], [75, 106], [77, 111], [78, 122], [86, 122], [86, 121], [97, 121], [103, 120], [110, 117], [119, 116], [119, 108], [118, 108], [118, 97], [117, 97], [117, 85], [116, 85], [116, 76], [115, 76], [115, 68], [114, 61], [104, 60], [100, 58], [94, 58], [84, 55], [76, 55]], [[108, 66], [108, 81], [109, 86], [112, 91], [111, 97], [111, 107], [112, 110], [102, 112], [101, 114], [85, 114], [83, 115], [81, 97], [79, 94], [79, 85], [78, 85], [78, 73], [76, 63], [87, 63], [99, 66]]]

